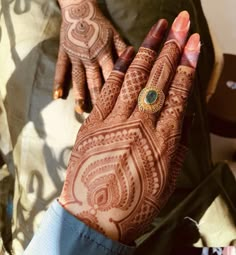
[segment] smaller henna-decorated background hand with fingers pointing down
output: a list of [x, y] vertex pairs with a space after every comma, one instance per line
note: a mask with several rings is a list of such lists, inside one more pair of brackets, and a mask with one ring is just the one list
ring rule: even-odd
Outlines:
[[94, 0], [61, 0], [60, 5], [62, 25], [53, 97], [64, 96], [65, 76], [71, 63], [75, 110], [82, 113], [86, 81], [94, 104], [103, 83], [100, 69], [106, 80], [113, 69], [113, 46], [120, 56], [126, 45]]

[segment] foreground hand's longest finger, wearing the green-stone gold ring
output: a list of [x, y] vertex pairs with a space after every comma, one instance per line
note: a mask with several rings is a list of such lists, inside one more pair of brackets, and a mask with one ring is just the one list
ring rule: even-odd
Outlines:
[[[146, 87], [139, 95], [138, 105], [132, 114], [133, 118], [145, 118], [151, 125], [156, 126], [159, 111], [180, 61], [189, 25], [189, 14], [187, 11], [182, 11], [174, 20], [167, 41], [151, 70]], [[146, 100], [149, 95], [152, 95], [154, 100], [150, 101], [151, 103]]]

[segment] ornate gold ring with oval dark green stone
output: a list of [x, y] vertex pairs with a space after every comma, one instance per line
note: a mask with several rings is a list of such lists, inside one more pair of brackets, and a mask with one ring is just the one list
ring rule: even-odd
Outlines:
[[138, 97], [138, 107], [142, 112], [158, 112], [162, 108], [164, 102], [164, 92], [153, 86], [142, 89]]

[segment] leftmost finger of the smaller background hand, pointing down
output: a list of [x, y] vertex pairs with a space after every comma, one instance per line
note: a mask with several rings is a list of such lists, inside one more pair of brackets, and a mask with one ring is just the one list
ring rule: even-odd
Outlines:
[[65, 86], [65, 77], [70, 60], [64, 49], [60, 46], [55, 69], [54, 84], [53, 84], [53, 99], [63, 97]]

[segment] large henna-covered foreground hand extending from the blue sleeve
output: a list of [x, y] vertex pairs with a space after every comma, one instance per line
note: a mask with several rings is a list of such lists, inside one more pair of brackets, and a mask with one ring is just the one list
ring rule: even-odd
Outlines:
[[[132, 48], [122, 54], [70, 158], [59, 202], [92, 228], [126, 244], [160, 212], [185, 156], [186, 128], [181, 142], [180, 137], [200, 51], [198, 34], [186, 43], [189, 23], [189, 14], [181, 12], [158, 57], [166, 20], [153, 26], [130, 66]], [[138, 103], [142, 89], [150, 86], [166, 96], [156, 113]]]

